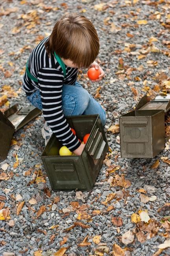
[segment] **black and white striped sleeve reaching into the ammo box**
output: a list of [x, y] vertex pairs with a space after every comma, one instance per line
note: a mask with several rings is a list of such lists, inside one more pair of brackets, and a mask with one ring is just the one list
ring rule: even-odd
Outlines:
[[70, 130], [62, 110], [63, 74], [58, 69], [41, 68], [38, 83], [42, 100], [42, 112], [52, 132], [70, 151], [80, 146], [78, 138]]

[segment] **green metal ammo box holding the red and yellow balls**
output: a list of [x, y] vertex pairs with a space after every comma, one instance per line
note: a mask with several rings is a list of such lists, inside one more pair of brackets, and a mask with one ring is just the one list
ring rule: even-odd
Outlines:
[[62, 144], [53, 134], [41, 159], [54, 191], [89, 191], [94, 186], [109, 148], [102, 123], [99, 115], [67, 117], [67, 122], [81, 140], [90, 133], [81, 156], [59, 156]]

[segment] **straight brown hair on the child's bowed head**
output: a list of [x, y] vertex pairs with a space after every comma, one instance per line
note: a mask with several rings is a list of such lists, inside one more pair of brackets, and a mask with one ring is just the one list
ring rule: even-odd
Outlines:
[[98, 55], [99, 39], [90, 20], [83, 15], [68, 13], [55, 24], [45, 48], [48, 56], [55, 51], [77, 67], [87, 68]]

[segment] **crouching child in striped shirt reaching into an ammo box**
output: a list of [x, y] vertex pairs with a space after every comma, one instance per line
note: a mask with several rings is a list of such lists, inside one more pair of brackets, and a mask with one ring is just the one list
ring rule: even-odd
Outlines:
[[105, 125], [104, 109], [76, 82], [78, 68], [83, 67], [99, 69], [96, 81], [102, 80], [104, 72], [94, 61], [98, 52], [96, 29], [87, 18], [74, 13], [63, 15], [50, 37], [44, 38], [31, 52], [22, 88], [28, 101], [42, 109], [45, 144], [53, 132], [79, 156], [85, 145], [72, 133], [65, 116], [99, 114]]

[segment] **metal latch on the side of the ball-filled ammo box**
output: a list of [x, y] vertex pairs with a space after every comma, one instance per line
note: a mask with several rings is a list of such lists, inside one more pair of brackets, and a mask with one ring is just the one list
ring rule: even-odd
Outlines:
[[94, 132], [94, 135], [89, 143], [87, 152], [94, 159], [99, 159], [102, 155], [103, 149], [105, 147], [105, 141], [103, 140], [102, 132], [97, 128]]

